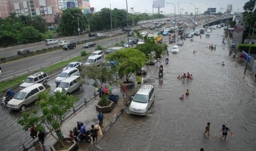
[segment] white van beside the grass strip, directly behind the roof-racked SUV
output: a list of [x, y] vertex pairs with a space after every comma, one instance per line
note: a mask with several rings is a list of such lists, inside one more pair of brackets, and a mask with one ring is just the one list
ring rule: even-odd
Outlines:
[[68, 68], [58, 74], [58, 77], [55, 78], [55, 83], [57, 85], [61, 84], [62, 80], [70, 77], [71, 75], [80, 75], [77, 68]]

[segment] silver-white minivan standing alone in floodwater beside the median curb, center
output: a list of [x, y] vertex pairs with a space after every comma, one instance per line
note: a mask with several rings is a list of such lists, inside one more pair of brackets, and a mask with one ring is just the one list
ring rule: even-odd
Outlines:
[[153, 85], [141, 85], [137, 93], [132, 97], [129, 112], [136, 115], [146, 115], [155, 100], [155, 89]]

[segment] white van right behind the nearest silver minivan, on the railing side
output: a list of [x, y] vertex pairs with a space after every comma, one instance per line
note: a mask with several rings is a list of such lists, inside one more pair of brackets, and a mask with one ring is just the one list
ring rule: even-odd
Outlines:
[[62, 91], [62, 89], [64, 88], [66, 90], [66, 94], [69, 95], [73, 91], [81, 89], [82, 85], [79, 83], [81, 79], [82, 78], [78, 75], [71, 75], [70, 77], [62, 80], [61, 84], [59, 84], [59, 87], [56, 88], [53, 93], [55, 93], [56, 91]]

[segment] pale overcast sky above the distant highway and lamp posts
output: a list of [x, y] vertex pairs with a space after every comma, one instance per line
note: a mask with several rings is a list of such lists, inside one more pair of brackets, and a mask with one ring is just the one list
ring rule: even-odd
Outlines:
[[[172, 4], [167, 4], [166, 2], [175, 4], [176, 14], [178, 14], [178, 11], [181, 9], [183, 9], [183, 14], [185, 11], [189, 11], [189, 13], [194, 14], [195, 7], [198, 8], [198, 13], [203, 13], [207, 8], [209, 8], [209, 5], [211, 8], [216, 8], [217, 12], [220, 11], [220, 8], [224, 8], [224, 11], [226, 11], [228, 4], [232, 4], [232, 9], [236, 11], [239, 9], [239, 11], [241, 11], [244, 4], [249, 2], [249, 0], [165, 0], [165, 8], [160, 8], [160, 11], [163, 11], [165, 14], [169, 14], [174, 13], [174, 7]], [[193, 3], [195, 7], [193, 4], [189, 3]], [[110, 4], [111, 9], [126, 9], [126, 0], [90, 0], [90, 7], [94, 7], [96, 11], [100, 11], [102, 8], [110, 8]], [[129, 13], [132, 13], [130, 8], [134, 8], [134, 12], [152, 13], [152, 0], [127, 0], [127, 4]], [[158, 10], [155, 8], [154, 13], [156, 13], [156, 11]]]

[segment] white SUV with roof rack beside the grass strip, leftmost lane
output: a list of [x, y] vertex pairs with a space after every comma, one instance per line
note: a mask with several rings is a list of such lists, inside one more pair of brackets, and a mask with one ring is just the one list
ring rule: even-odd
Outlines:
[[35, 83], [42, 83], [43, 86], [46, 86], [48, 80], [49, 77], [45, 72], [36, 72], [34, 74], [29, 75], [26, 78], [26, 80], [23, 80], [23, 83], [20, 84], [19, 88], [24, 89]]

